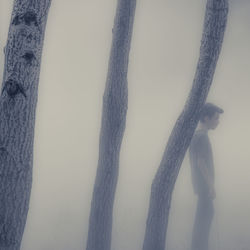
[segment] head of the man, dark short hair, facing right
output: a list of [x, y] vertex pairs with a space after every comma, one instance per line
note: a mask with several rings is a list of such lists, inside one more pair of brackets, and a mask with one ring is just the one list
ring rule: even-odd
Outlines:
[[204, 104], [201, 114], [200, 122], [207, 129], [215, 129], [219, 124], [219, 117], [224, 111], [212, 103]]

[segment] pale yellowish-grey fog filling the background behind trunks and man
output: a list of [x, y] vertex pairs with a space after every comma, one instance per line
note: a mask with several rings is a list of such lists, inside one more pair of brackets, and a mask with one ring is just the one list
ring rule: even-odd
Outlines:
[[[191, 88], [205, 0], [138, 0], [112, 250], [142, 247], [150, 187]], [[0, 64], [12, 1], [0, 1]], [[39, 83], [33, 187], [22, 250], [81, 250], [87, 239], [116, 0], [53, 0]], [[208, 101], [216, 178], [213, 250], [250, 249], [250, 1], [230, 1]], [[189, 250], [196, 207], [188, 157], [173, 194], [168, 250]]]

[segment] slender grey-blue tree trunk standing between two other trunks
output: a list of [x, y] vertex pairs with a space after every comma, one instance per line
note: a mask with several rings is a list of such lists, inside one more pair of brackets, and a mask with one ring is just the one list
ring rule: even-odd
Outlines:
[[127, 71], [135, 6], [136, 0], [118, 0], [103, 96], [99, 162], [89, 218], [87, 250], [109, 250], [111, 247], [113, 204], [127, 113]]

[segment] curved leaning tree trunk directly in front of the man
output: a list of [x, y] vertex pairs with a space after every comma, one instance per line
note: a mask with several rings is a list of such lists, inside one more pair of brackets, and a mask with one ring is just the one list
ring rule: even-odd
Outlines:
[[193, 86], [152, 183], [143, 250], [165, 249], [174, 184], [212, 83], [223, 42], [227, 13], [227, 0], [207, 1], [200, 58]]

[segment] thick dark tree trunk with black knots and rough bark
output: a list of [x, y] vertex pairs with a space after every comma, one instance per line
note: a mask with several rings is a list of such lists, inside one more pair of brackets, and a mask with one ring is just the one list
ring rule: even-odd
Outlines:
[[15, 0], [0, 97], [0, 249], [19, 250], [32, 182], [35, 110], [51, 0]]

